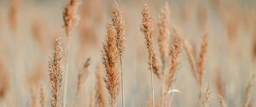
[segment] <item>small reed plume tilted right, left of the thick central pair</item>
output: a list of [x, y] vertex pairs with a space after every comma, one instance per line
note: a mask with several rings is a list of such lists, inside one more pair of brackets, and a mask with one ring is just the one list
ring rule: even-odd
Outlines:
[[77, 85], [78, 85], [77, 86], [77, 95], [79, 95], [82, 84], [86, 81], [86, 79], [89, 75], [89, 70], [88, 70], [89, 66], [90, 66], [90, 58], [86, 59], [86, 61], [84, 62], [83, 70], [79, 71], [78, 83], [77, 83]]

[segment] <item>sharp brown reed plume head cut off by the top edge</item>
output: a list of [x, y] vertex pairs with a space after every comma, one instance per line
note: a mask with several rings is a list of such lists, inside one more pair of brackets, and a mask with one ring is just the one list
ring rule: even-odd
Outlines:
[[73, 27], [77, 24], [78, 16], [76, 14], [77, 8], [79, 6], [78, 0], [70, 0], [67, 7], [64, 9], [62, 17], [64, 21], [64, 28], [67, 37], [71, 36]]

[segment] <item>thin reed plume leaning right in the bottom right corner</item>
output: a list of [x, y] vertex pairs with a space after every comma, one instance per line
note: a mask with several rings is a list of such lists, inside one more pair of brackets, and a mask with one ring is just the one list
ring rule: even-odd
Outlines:
[[253, 81], [254, 81], [255, 75], [253, 75], [251, 81], [247, 85], [247, 93], [246, 93], [246, 100], [243, 105], [243, 107], [249, 107], [249, 105], [252, 103], [252, 94], [253, 94]]

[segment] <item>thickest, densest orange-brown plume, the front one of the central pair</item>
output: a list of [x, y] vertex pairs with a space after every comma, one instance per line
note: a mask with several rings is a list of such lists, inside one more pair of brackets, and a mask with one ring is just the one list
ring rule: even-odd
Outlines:
[[107, 75], [105, 82], [108, 93], [112, 98], [112, 107], [116, 106], [120, 88], [120, 72], [117, 66], [118, 50], [116, 47], [116, 38], [114, 33], [113, 23], [108, 24], [108, 38], [106, 44], [103, 45], [103, 65]]

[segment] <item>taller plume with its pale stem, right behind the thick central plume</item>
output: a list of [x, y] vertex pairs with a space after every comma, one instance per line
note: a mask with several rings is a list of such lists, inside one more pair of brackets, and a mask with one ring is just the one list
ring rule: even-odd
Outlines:
[[123, 80], [123, 54], [124, 54], [124, 42], [125, 42], [125, 23], [123, 20], [122, 11], [119, 9], [118, 5], [113, 6], [113, 26], [116, 31], [116, 45], [119, 53], [119, 69], [121, 70], [121, 86], [122, 86], [122, 105], [125, 107], [125, 87]]

